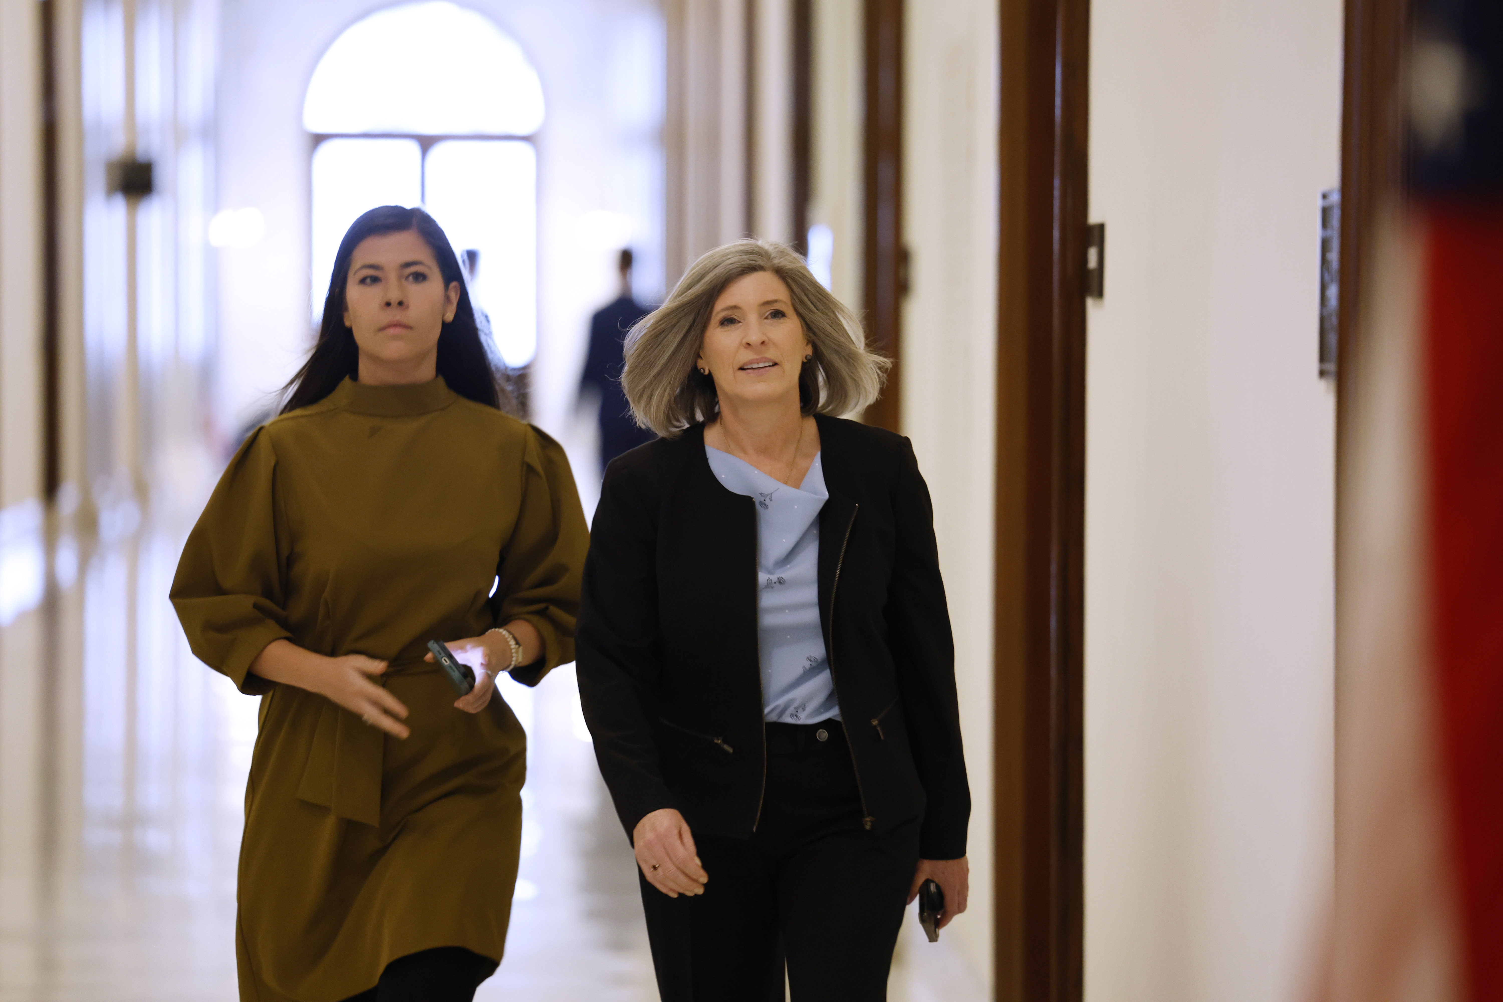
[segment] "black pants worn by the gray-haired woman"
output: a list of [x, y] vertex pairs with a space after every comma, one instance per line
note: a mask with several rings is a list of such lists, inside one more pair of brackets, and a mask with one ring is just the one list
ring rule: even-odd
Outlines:
[[[819, 732], [825, 739], [819, 739]], [[876, 835], [839, 721], [768, 724], [752, 838], [694, 835], [709, 883], [670, 898], [642, 879], [664, 1002], [875, 1002], [918, 865], [918, 820]]]

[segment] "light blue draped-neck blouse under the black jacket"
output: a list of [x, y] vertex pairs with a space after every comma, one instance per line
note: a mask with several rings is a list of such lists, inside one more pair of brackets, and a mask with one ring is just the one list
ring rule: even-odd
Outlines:
[[705, 455], [726, 490], [756, 500], [762, 720], [840, 720], [819, 629], [819, 509], [830, 497], [819, 457], [788, 487], [729, 452], [706, 445]]

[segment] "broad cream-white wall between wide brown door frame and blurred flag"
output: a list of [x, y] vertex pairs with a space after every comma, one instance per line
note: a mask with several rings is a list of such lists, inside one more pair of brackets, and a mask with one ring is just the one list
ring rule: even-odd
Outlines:
[[1332, 871], [1342, 5], [1091, 17], [1087, 999], [1290, 999]]

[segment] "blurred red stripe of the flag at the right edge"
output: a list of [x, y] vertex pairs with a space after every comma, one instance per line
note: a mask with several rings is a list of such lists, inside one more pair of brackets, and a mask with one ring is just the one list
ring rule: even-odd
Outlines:
[[1465, 994], [1503, 999], [1503, 207], [1425, 204], [1429, 669]]

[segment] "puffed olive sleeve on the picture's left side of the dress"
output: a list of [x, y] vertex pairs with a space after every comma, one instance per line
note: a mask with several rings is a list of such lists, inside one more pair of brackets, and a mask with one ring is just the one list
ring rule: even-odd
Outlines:
[[287, 553], [277, 452], [259, 428], [230, 460], [188, 535], [171, 589], [188, 646], [251, 696], [271, 688], [249, 675], [251, 661], [292, 635], [283, 611]]

